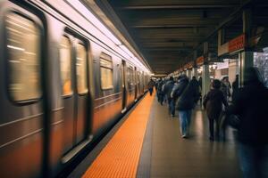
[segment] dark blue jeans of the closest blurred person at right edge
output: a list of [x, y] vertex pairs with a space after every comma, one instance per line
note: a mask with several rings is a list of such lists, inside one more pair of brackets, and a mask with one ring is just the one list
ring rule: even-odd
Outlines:
[[239, 143], [239, 162], [244, 178], [268, 177], [268, 145]]

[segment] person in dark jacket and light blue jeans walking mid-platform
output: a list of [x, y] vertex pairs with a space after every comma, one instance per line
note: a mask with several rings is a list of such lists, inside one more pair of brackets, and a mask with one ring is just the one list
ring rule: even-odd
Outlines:
[[[185, 80], [185, 82], [188, 83], [188, 78]], [[182, 88], [180, 91], [174, 91], [174, 93], [176, 93], [178, 96], [176, 101], [176, 109], [179, 110], [180, 133], [182, 138], [187, 138], [189, 135], [191, 111], [195, 107], [195, 99], [198, 93], [195, 89], [195, 84], [193, 81], [190, 81], [188, 85]]]

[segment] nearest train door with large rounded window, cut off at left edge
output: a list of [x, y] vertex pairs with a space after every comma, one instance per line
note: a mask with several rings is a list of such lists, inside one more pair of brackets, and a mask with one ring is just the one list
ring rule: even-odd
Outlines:
[[42, 22], [31, 12], [10, 2], [0, 5], [1, 177], [42, 174], [46, 47]]

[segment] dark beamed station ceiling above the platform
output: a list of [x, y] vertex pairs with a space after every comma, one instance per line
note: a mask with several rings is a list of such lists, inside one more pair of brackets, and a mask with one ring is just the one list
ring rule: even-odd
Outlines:
[[[228, 38], [243, 32], [243, 0], [97, 0], [108, 4], [155, 74], [169, 74], [203, 53], [203, 43], [217, 55], [217, 28], [232, 18]], [[234, 17], [231, 17], [234, 16]], [[266, 17], [266, 16], [265, 16]]]

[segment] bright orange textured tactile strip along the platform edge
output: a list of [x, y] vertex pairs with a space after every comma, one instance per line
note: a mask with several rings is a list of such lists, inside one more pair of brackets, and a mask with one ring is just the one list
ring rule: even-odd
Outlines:
[[139, 155], [155, 94], [147, 96], [130, 113], [113, 138], [97, 156], [83, 178], [136, 177]]

